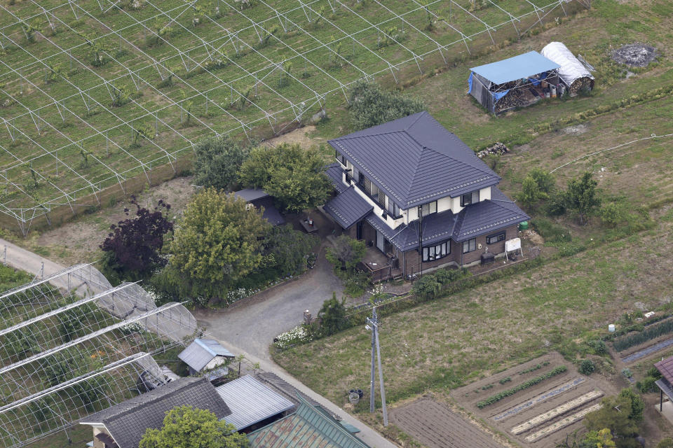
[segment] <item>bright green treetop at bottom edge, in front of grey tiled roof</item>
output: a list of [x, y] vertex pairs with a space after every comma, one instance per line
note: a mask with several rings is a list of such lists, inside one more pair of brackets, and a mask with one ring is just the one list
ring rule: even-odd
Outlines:
[[247, 448], [250, 442], [231, 423], [207, 409], [180, 406], [166, 412], [161, 429], [149, 428], [140, 448]]

